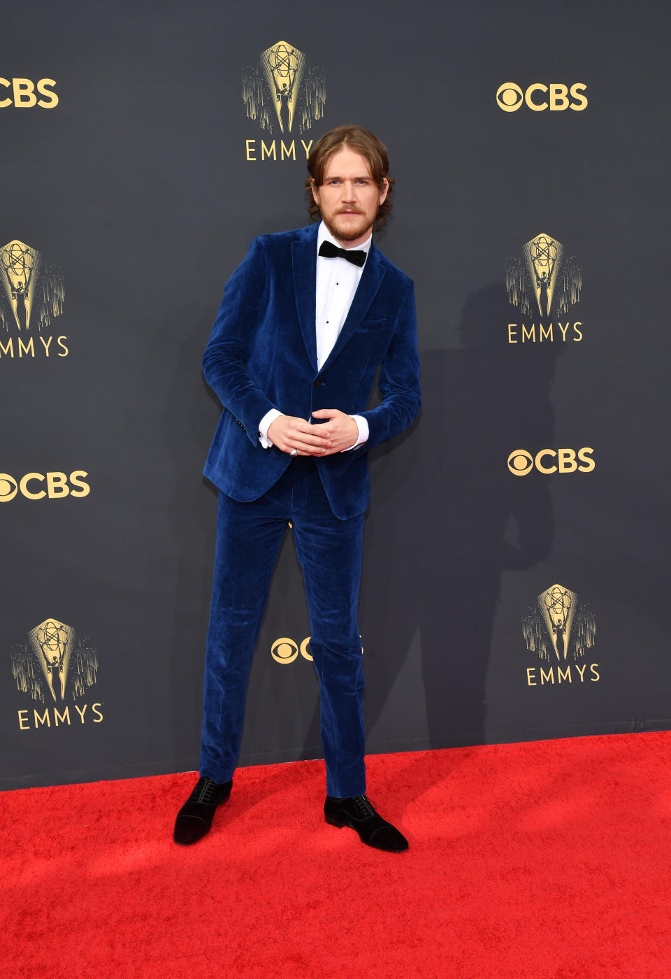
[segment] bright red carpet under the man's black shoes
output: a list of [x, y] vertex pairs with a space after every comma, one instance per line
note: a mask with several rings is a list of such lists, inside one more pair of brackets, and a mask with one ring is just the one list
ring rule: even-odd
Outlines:
[[671, 732], [369, 760], [410, 840], [321, 816], [322, 763], [239, 769], [171, 841], [191, 774], [2, 795], [3, 974], [669, 979]]

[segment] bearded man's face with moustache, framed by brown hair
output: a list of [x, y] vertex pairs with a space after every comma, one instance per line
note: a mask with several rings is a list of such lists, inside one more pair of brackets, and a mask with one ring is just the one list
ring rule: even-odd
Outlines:
[[380, 187], [371, 176], [368, 162], [343, 146], [332, 154], [321, 187], [312, 187], [327, 228], [340, 245], [363, 245], [383, 203], [389, 183]]

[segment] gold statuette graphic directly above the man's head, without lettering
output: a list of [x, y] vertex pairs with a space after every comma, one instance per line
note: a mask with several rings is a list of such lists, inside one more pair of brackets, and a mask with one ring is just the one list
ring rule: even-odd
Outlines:
[[295, 130], [296, 121], [305, 132], [324, 114], [324, 75], [289, 41], [276, 41], [260, 53], [257, 66], [246, 69], [243, 101], [247, 118], [262, 129], [272, 133], [276, 117], [283, 136]]

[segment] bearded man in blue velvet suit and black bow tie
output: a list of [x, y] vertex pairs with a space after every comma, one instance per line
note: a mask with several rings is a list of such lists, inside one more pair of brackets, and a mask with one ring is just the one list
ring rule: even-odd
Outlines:
[[[252, 648], [291, 521], [320, 685], [326, 820], [400, 852], [406, 839], [365, 795], [357, 603], [367, 453], [420, 408], [414, 290], [372, 243], [393, 186], [380, 140], [340, 126], [307, 165], [310, 212], [321, 223], [251, 243], [202, 361], [224, 408], [204, 468], [220, 494], [201, 778], [174, 839], [201, 839], [230, 795]], [[379, 368], [381, 403], [368, 411]]]

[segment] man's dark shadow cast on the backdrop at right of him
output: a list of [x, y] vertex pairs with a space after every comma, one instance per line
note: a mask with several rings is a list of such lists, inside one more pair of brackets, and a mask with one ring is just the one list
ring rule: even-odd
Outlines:
[[[366, 702], [374, 750], [407, 750], [409, 737], [417, 748], [486, 742], [502, 575], [535, 566], [551, 549], [548, 477], [515, 477], [507, 461], [514, 449], [554, 444], [558, 348], [509, 345], [510, 315], [503, 283], [470, 295], [462, 349], [422, 354], [416, 431], [372, 453], [360, 622], [374, 664]], [[416, 692], [404, 726], [415, 733], [401, 738], [387, 704], [418, 639], [424, 692], [407, 677], [409, 695]]]

